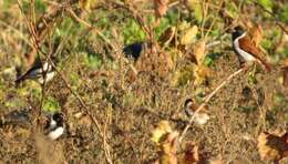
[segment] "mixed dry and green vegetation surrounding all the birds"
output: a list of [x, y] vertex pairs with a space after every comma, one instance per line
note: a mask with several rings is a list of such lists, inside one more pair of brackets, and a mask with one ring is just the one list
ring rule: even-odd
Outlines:
[[[226, 81], [207, 104], [209, 122], [192, 124], [179, 145], [197, 145], [194, 153], [206, 161], [270, 163], [261, 160], [257, 137], [288, 130], [288, 79], [280, 69], [288, 65], [286, 0], [1, 0], [2, 120], [31, 106], [31, 120], [37, 111], [61, 111], [69, 125], [51, 142], [33, 121], [1, 124], [1, 161], [162, 161], [163, 144], [152, 140], [155, 126], [165, 120], [183, 132], [189, 121], [185, 100], [202, 103], [239, 69], [230, 39], [236, 25], [250, 32], [274, 69], [253, 65]], [[123, 54], [134, 42], [145, 42], [136, 62]], [[53, 81], [14, 86], [19, 73], [50, 54], [60, 60]]]

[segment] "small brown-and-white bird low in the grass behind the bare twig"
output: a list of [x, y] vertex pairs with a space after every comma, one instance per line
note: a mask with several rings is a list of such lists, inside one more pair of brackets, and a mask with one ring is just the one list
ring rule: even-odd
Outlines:
[[194, 122], [198, 125], [204, 125], [208, 122], [210, 116], [207, 113], [205, 113], [206, 109], [203, 109], [202, 111], [195, 113], [198, 106], [199, 105], [196, 102], [194, 102], [192, 99], [187, 99], [184, 103], [184, 112], [188, 117], [195, 114]]

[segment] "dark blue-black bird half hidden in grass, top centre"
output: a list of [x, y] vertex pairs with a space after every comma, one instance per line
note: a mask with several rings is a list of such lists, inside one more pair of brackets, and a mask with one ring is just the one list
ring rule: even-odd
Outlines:
[[134, 42], [124, 47], [123, 52], [126, 58], [137, 61], [144, 49], [144, 42]]

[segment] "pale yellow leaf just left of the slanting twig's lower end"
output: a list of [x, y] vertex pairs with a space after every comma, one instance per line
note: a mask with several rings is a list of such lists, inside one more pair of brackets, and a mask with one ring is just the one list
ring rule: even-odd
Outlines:
[[164, 135], [172, 132], [172, 127], [167, 121], [161, 121], [156, 129], [152, 131], [152, 141], [160, 144], [163, 141]]

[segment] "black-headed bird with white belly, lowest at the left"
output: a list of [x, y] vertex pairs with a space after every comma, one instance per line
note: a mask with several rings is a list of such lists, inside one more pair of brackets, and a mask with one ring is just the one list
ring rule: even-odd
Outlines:
[[50, 115], [44, 129], [50, 140], [54, 141], [59, 139], [65, 131], [64, 114], [56, 112]]

